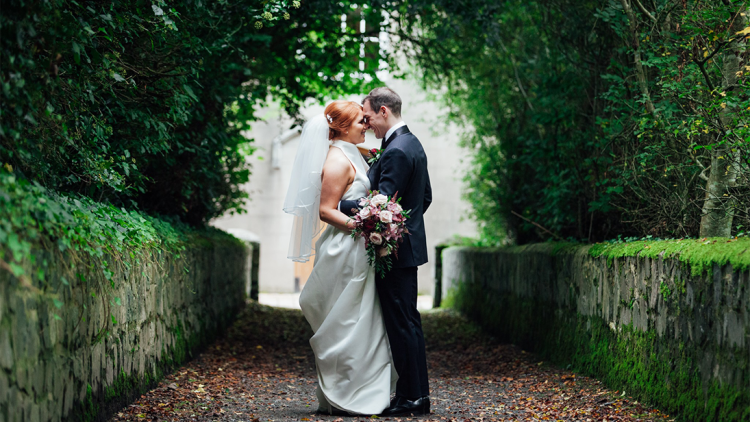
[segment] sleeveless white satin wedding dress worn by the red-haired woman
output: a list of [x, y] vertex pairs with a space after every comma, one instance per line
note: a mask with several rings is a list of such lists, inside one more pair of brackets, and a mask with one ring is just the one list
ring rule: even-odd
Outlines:
[[[341, 149], [356, 170], [341, 199], [366, 196], [368, 166], [357, 147], [333, 141], [332, 148]], [[352, 414], [381, 413], [390, 404], [398, 376], [364, 240], [329, 225], [315, 244], [315, 265], [299, 303], [315, 333], [310, 345], [318, 371], [319, 410], [329, 412], [334, 406]]]

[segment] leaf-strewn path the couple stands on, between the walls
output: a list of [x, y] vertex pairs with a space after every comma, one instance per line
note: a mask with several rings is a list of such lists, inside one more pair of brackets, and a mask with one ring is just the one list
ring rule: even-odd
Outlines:
[[[423, 313], [433, 413], [394, 422], [664, 421], [598, 381], [500, 344], [452, 311]], [[250, 303], [227, 336], [112, 421], [364, 421], [314, 413], [315, 367], [301, 312]]]

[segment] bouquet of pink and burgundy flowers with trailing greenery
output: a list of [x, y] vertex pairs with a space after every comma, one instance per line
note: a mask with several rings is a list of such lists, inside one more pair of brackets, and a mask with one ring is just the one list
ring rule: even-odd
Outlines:
[[371, 191], [362, 198], [362, 208], [352, 217], [356, 227], [352, 237], [365, 239], [367, 259], [381, 276], [391, 269], [391, 255], [398, 257], [398, 244], [408, 234], [406, 219], [409, 211], [399, 205], [396, 195], [389, 198], [378, 191]]

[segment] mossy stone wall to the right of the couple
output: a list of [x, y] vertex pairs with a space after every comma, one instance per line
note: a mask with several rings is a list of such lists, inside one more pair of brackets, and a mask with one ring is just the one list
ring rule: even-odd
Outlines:
[[443, 290], [501, 339], [679, 420], [750, 420], [748, 273], [589, 248], [449, 248]]

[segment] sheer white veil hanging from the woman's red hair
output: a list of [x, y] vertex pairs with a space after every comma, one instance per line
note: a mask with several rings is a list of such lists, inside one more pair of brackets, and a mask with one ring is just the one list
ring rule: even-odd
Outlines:
[[319, 114], [302, 128], [292, 178], [284, 200], [284, 212], [294, 215], [287, 257], [307, 262], [313, 255], [313, 238], [320, 233], [320, 187], [328, 155], [328, 121]]

